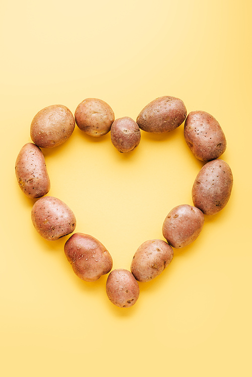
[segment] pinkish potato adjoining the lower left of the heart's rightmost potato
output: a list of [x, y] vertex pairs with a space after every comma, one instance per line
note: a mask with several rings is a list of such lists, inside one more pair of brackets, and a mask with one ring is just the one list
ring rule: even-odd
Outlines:
[[197, 239], [204, 220], [204, 214], [200, 209], [188, 204], [177, 205], [164, 220], [163, 236], [172, 247], [183, 248]]

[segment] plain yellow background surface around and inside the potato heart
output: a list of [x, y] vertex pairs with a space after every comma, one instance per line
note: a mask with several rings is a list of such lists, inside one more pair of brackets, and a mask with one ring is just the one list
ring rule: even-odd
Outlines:
[[[3, 376], [250, 376], [251, 356], [251, 2], [14, 0], [1, 5], [0, 369]], [[106, 276], [81, 281], [64, 254], [69, 238], [43, 240], [35, 200], [18, 187], [15, 161], [45, 106], [74, 113], [87, 97], [115, 117], [136, 119], [153, 99], [181, 98], [204, 110], [227, 138], [222, 159], [234, 186], [199, 238], [174, 250], [169, 267], [140, 283], [130, 309], [108, 300]], [[191, 189], [203, 165], [183, 138], [142, 132], [131, 154], [107, 134], [77, 127], [43, 150], [49, 195], [99, 239], [113, 268], [130, 268], [146, 240]]]

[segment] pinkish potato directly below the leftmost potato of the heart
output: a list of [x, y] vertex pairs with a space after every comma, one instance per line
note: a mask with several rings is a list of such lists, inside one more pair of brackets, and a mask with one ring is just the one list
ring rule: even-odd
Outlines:
[[38, 199], [32, 207], [31, 218], [36, 231], [48, 241], [67, 236], [76, 227], [73, 211], [53, 196]]

